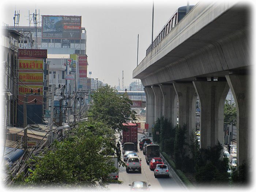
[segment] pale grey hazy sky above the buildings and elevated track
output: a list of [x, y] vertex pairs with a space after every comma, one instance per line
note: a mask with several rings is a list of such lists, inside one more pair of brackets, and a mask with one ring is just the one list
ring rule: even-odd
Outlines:
[[[190, 0], [195, 5], [199, 0]], [[36, 3], [35, 3], [36, 2]], [[19, 26], [29, 26], [29, 12], [40, 15], [82, 16], [82, 27], [87, 31], [88, 71], [111, 86], [122, 86], [135, 81], [132, 71], [137, 65], [137, 41], [139, 34], [140, 63], [151, 43], [152, 0], [39, 0], [1, 1], [1, 25], [14, 25], [14, 12], [20, 12]], [[161, 31], [174, 11], [187, 5], [187, 0], [154, 1], [154, 38]], [[89, 73], [88, 73], [89, 76]]]

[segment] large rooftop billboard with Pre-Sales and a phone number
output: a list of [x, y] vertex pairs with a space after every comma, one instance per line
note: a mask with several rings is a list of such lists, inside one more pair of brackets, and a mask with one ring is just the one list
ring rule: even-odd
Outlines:
[[82, 16], [42, 15], [42, 38], [81, 39]]

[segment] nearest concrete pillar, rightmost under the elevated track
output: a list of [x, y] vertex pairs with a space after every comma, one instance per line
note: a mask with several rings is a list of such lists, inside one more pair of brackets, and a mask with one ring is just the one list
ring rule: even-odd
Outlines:
[[248, 75], [226, 75], [227, 83], [234, 96], [237, 108], [237, 165], [241, 165], [244, 161], [248, 161], [252, 157], [249, 156], [249, 148], [252, 137], [249, 136], [251, 128], [250, 104], [251, 95], [249, 93], [250, 80]]

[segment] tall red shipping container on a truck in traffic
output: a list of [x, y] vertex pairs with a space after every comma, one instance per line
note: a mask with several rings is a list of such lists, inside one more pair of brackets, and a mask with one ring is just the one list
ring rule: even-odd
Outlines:
[[138, 151], [138, 128], [140, 128], [140, 123], [126, 123], [123, 125], [129, 130], [123, 131], [122, 145], [124, 143], [134, 143], [135, 151]]

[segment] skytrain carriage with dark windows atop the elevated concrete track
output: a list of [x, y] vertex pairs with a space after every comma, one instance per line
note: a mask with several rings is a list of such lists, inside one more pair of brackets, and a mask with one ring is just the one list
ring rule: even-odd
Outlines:
[[[194, 7], [195, 5], [189, 6], [189, 11]], [[179, 7], [172, 17], [169, 19], [169, 21], [166, 23], [166, 25], [163, 27], [161, 32], [157, 35], [157, 37], [153, 41], [153, 46], [150, 44], [148, 49], [146, 50], [146, 56], [148, 53], [151, 52], [152, 49], [154, 49], [160, 41], [168, 34], [170, 31], [180, 22], [180, 20], [186, 15], [187, 12], [187, 6]]]

